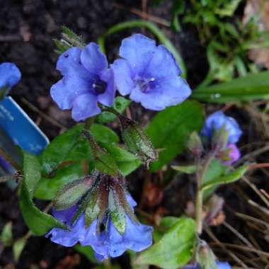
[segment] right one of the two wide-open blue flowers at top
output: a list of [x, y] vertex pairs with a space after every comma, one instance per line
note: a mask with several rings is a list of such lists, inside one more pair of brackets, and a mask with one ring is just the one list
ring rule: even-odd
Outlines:
[[144, 108], [163, 110], [190, 96], [176, 59], [164, 45], [156, 46], [154, 40], [135, 34], [122, 40], [120, 57], [111, 66], [116, 87]]

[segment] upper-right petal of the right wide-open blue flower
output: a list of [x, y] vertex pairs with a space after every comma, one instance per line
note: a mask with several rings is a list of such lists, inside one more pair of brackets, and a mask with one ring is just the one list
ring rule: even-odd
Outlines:
[[163, 79], [168, 77], [173, 79], [179, 74], [181, 74], [181, 69], [178, 67], [176, 59], [164, 45], [159, 45], [142, 76], [149, 79]]

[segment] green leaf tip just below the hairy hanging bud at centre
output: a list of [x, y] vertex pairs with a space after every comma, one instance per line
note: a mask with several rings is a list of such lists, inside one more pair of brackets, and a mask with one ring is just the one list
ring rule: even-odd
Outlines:
[[142, 164], [137, 156], [121, 147], [111, 144], [102, 145], [113, 156], [123, 176], [129, 175]]

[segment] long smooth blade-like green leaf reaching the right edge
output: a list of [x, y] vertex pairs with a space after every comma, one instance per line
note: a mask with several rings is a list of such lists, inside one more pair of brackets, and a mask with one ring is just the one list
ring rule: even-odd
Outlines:
[[191, 98], [210, 103], [251, 101], [269, 98], [269, 71], [248, 74], [221, 84], [198, 88]]

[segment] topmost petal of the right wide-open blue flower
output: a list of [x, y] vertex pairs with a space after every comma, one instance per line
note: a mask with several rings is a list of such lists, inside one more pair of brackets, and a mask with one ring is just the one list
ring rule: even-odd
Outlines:
[[155, 51], [156, 44], [154, 40], [142, 34], [135, 34], [122, 40], [120, 57], [127, 59], [130, 68], [140, 75], [147, 68]]

